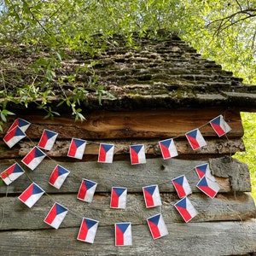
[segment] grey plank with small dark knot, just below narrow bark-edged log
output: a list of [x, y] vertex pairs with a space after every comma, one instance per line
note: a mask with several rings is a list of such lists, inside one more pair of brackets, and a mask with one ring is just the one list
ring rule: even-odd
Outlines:
[[[1, 170], [5, 170], [14, 161], [1, 162]], [[130, 192], [141, 192], [142, 188], [147, 185], [157, 183], [161, 192], [175, 192], [172, 185], [172, 179], [180, 175], [185, 175], [189, 181], [193, 192], [199, 192], [196, 184], [199, 177], [195, 172], [195, 166], [206, 163], [206, 161], [197, 160], [163, 160], [148, 159], [146, 164], [132, 166], [129, 161], [116, 161], [112, 164], [101, 164], [97, 162], [57, 162], [55, 160], [43, 160], [43, 162], [33, 172], [26, 170], [26, 175], [20, 176], [17, 180], [9, 185], [9, 193], [21, 193], [33, 181], [38, 183], [48, 193], [59, 193], [59, 189], [55, 189], [49, 185], [48, 180], [51, 172], [57, 164], [64, 166], [71, 173], [67, 177], [65, 183], [61, 187], [61, 193], [77, 193], [82, 178], [87, 178], [98, 183], [97, 192], [109, 192], [113, 186], [128, 188]], [[221, 158], [219, 159], [221, 164]], [[236, 165], [241, 165], [236, 161]], [[237, 168], [236, 168], [237, 169]], [[236, 171], [236, 169], [234, 171]], [[249, 172], [245, 169], [244, 172]], [[240, 173], [244, 186], [242, 190], [249, 192], [251, 184], [247, 173]], [[247, 177], [247, 179], [245, 179]], [[219, 192], [230, 192], [232, 188], [231, 177], [216, 177], [220, 186]], [[241, 188], [239, 188], [241, 189]], [[241, 191], [241, 190], [238, 190]], [[6, 193], [6, 186], [0, 186], [0, 193]]]

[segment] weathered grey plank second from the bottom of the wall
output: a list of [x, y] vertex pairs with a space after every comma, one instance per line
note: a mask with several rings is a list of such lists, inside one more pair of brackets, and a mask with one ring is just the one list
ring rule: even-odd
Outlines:
[[[79, 227], [81, 218], [94, 218], [102, 225], [131, 221], [132, 224], [144, 224], [149, 216], [161, 212], [166, 223], [184, 223], [174, 204], [177, 195], [161, 194], [161, 207], [146, 208], [143, 194], [128, 193], [126, 208], [110, 208], [110, 194], [96, 194], [91, 203], [79, 201], [77, 195], [44, 195], [32, 208], [26, 207], [17, 197], [0, 198], [0, 230], [39, 230], [50, 228], [44, 224], [44, 218], [55, 201], [67, 207], [69, 212], [61, 227]], [[250, 195], [219, 194], [211, 199], [199, 193], [189, 195], [198, 215], [190, 222], [242, 220], [256, 218], [253, 198]], [[19, 221], [14, 221], [19, 219]]]

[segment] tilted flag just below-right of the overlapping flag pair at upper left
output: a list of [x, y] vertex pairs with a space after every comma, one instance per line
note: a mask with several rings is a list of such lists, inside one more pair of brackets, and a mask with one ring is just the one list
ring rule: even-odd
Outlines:
[[42, 162], [42, 160], [44, 160], [45, 156], [46, 154], [44, 154], [40, 148], [35, 146], [28, 154], [26, 154], [21, 162], [31, 170], [34, 170]]

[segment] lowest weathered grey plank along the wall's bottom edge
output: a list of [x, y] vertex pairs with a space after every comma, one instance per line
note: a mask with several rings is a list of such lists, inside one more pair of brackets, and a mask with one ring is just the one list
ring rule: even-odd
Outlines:
[[79, 229], [14, 230], [0, 233], [3, 256], [196, 255], [256, 252], [256, 222], [166, 224], [169, 235], [153, 240], [147, 224], [132, 225], [132, 246], [115, 247], [113, 225], [99, 224], [93, 244], [77, 241]]

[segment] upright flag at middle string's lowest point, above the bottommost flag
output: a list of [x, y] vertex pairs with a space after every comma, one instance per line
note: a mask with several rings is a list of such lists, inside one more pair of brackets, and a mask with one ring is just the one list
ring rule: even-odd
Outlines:
[[110, 207], [118, 208], [118, 209], [125, 209], [126, 196], [127, 196], [126, 188], [113, 187], [111, 190]]

